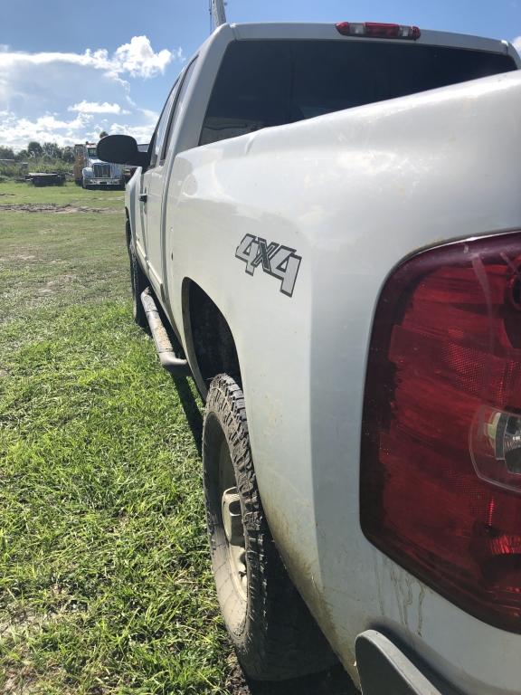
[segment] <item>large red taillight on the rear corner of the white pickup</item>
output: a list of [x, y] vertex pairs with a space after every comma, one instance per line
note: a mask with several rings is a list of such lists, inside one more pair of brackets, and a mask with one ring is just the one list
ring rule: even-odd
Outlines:
[[361, 523], [478, 618], [521, 633], [521, 233], [393, 272], [367, 367]]

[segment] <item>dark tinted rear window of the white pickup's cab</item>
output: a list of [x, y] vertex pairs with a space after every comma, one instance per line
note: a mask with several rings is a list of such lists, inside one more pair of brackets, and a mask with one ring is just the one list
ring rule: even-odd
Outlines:
[[422, 44], [238, 41], [224, 55], [200, 144], [511, 70], [508, 55]]

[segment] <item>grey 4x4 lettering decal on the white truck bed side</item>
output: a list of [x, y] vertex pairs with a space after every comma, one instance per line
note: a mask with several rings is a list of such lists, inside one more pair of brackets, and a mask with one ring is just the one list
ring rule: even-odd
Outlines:
[[246, 272], [253, 275], [255, 268], [262, 265], [262, 270], [274, 278], [279, 278], [280, 291], [291, 297], [295, 289], [298, 268], [302, 257], [295, 249], [279, 243], [268, 243], [266, 239], [253, 234], [246, 234], [237, 246], [235, 258], [246, 263]]

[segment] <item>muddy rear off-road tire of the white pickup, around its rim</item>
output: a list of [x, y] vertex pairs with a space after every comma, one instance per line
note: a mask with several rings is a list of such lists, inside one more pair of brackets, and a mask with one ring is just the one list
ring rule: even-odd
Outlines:
[[[247, 594], [232, 577], [223, 528], [221, 447], [230, 452], [241, 501], [246, 550]], [[231, 376], [215, 376], [206, 401], [203, 431], [204, 495], [213, 574], [224, 623], [246, 675], [285, 681], [336, 663], [282, 564], [257, 488], [244, 396]]]

